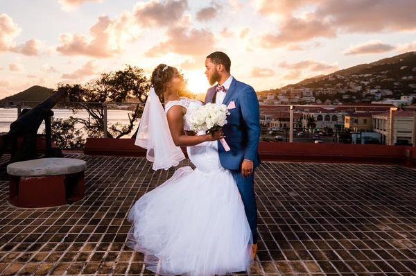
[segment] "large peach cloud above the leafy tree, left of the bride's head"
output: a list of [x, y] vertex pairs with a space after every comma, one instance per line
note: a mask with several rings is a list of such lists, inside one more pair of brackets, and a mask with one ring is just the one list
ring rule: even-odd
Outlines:
[[62, 55], [87, 55], [94, 58], [110, 58], [123, 51], [125, 42], [135, 40], [138, 30], [135, 20], [128, 12], [116, 19], [98, 17], [98, 22], [90, 28], [91, 37], [85, 35], [60, 34], [60, 46], [56, 51]]

